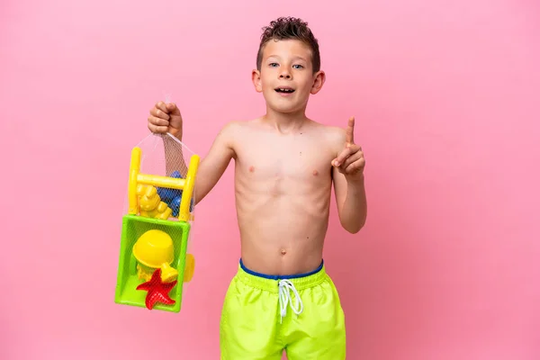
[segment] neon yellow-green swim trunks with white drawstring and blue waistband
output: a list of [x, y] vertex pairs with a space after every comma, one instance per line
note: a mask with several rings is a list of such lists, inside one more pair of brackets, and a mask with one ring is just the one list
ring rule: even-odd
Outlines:
[[342, 360], [345, 315], [323, 263], [309, 274], [255, 273], [240, 260], [220, 321], [221, 360]]

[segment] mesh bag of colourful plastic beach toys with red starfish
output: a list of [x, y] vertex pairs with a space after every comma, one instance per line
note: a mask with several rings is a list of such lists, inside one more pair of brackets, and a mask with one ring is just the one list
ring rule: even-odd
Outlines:
[[170, 134], [132, 148], [115, 302], [179, 312], [192, 280], [194, 184], [200, 157]]

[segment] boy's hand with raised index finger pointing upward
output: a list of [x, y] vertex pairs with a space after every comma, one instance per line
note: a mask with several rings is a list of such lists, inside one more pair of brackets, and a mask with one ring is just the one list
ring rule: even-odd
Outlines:
[[345, 148], [332, 160], [332, 166], [347, 177], [347, 180], [355, 181], [364, 177], [365, 158], [362, 148], [355, 144], [355, 118], [348, 120], [345, 139]]

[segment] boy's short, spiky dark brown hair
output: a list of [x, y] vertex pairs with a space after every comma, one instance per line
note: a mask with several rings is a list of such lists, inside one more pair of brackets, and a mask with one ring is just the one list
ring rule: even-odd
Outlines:
[[261, 43], [257, 52], [257, 70], [260, 71], [263, 62], [263, 49], [270, 40], [301, 40], [311, 49], [313, 72], [320, 70], [319, 41], [315, 39], [308, 23], [295, 17], [280, 17], [263, 28]]

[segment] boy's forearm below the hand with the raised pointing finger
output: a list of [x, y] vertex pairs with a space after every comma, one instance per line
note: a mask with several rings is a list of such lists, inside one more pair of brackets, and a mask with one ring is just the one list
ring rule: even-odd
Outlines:
[[347, 196], [341, 214], [341, 225], [348, 232], [356, 234], [364, 227], [367, 216], [364, 176], [359, 180], [347, 181]]

